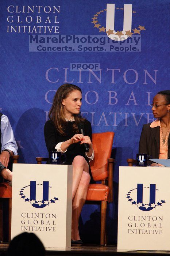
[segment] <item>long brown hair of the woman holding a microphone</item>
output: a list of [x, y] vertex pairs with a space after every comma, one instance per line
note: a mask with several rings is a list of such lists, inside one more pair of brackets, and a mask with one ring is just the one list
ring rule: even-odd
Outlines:
[[[57, 131], [60, 135], [66, 135], [64, 128], [66, 120], [64, 116], [64, 109], [62, 105], [63, 99], [66, 99], [72, 91], [81, 89], [74, 84], [62, 84], [56, 91], [53, 99], [53, 105], [49, 112], [49, 118], [53, 121]], [[75, 123], [73, 124], [73, 131], [79, 133], [78, 124], [85, 121], [85, 118], [81, 117], [80, 113], [74, 115]]]

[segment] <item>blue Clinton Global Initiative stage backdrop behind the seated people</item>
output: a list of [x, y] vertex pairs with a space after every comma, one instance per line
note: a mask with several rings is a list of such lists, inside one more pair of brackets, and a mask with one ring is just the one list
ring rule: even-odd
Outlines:
[[[115, 132], [114, 203], [109, 242], [117, 239], [119, 166], [135, 158], [150, 104], [169, 89], [169, 1], [1, 0], [1, 112], [9, 117], [21, 163], [47, 157], [43, 127], [63, 83], [82, 89], [93, 132]], [[108, 5], [107, 5], [108, 4]], [[115, 4], [115, 5], [114, 5]], [[124, 18], [128, 18], [128, 22]], [[85, 206], [84, 240], [99, 241], [100, 209]]]

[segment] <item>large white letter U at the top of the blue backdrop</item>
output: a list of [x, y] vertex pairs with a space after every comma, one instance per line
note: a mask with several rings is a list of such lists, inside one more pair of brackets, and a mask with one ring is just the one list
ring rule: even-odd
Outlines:
[[[106, 31], [113, 30], [115, 31], [115, 4], [107, 4], [107, 13], [106, 13]], [[123, 31], [124, 35], [108, 35], [109, 38], [115, 41], [123, 41], [129, 37], [125, 35], [126, 31], [132, 30], [132, 4], [124, 4], [124, 17], [123, 17]]]

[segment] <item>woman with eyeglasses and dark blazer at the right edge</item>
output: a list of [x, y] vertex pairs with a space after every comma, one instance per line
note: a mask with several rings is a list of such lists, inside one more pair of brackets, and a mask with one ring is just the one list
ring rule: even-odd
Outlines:
[[151, 107], [157, 119], [143, 125], [139, 153], [146, 153], [152, 158], [168, 159], [170, 158], [170, 90], [157, 93]]

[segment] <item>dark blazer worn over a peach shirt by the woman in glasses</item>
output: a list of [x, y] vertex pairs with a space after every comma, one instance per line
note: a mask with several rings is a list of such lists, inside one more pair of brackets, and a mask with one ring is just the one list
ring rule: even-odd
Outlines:
[[[144, 124], [140, 135], [139, 153], [146, 153], [152, 158], [159, 158], [160, 127], [151, 128], [150, 124]], [[168, 158], [170, 158], [170, 135], [168, 138]]]

